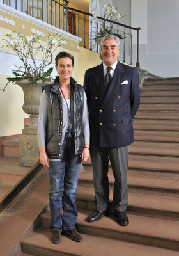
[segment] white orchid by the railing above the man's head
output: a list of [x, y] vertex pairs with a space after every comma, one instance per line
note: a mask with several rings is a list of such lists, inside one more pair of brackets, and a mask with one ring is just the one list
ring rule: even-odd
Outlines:
[[[97, 18], [97, 13], [92, 12], [93, 17]], [[125, 14], [122, 13], [117, 13], [117, 10], [111, 6], [111, 4], [104, 4], [103, 6], [103, 18], [100, 20], [100, 29], [97, 33], [96, 38], [98, 37], [103, 37], [107, 34], [111, 34], [114, 36], [118, 36], [120, 39], [123, 39], [124, 37], [121, 36], [119, 33], [116, 33], [116, 29], [113, 28], [114, 23], [113, 21], [118, 21], [121, 18], [126, 16]], [[109, 21], [107, 21], [109, 20]]]

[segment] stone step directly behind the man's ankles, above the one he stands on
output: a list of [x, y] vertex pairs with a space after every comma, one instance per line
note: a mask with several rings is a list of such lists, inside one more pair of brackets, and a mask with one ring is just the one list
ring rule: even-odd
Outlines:
[[[110, 191], [109, 204], [112, 209], [113, 190]], [[77, 188], [78, 209], [95, 210], [95, 192], [93, 188]], [[153, 218], [162, 218], [166, 220], [179, 220], [178, 198], [158, 195], [141, 195], [137, 193], [128, 193], [127, 214], [148, 216]]]

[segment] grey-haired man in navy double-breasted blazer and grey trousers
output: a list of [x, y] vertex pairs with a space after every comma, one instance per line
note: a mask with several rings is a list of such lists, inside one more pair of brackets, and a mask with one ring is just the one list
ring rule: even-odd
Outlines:
[[[86, 91], [91, 131], [90, 153], [97, 210], [87, 221], [110, 214], [108, 161], [114, 175], [113, 209], [118, 224], [127, 226], [128, 145], [134, 142], [132, 119], [139, 108], [140, 90], [137, 70], [121, 64], [120, 40], [106, 35], [100, 44], [103, 63], [86, 70]], [[109, 160], [108, 160], [109, 159]]]

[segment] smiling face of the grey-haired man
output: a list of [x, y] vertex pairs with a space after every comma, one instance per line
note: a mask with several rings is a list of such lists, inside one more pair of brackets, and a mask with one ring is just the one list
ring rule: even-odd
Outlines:
[[114, 39], [106, 39], [102, 43], [101, 52], [102, 59], [107, 67], [112, 66], [120, 55], [120, 49]]

